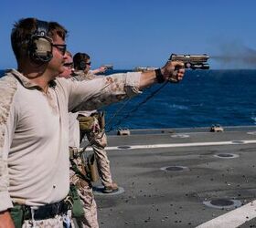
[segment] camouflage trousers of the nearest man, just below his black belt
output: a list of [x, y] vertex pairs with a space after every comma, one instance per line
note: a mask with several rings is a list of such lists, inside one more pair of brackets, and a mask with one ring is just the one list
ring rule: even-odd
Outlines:
[[55, 218], [45, 220], [25, 220], [22, 228], [63, 228], [75, 227], [71, 220], [71, 211], [65, 215], [56, 215]]

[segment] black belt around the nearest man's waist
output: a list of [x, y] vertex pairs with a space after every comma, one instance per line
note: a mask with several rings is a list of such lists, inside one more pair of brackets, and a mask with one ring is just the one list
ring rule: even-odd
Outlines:
[[24, 212], [24, 220], [50, 219], [54, 218], [56, 215], [62, 215], [69, 210], [69, 204], [67, 202], [64, 202], [64, 200], [60, 202], [50, 203], [44, 206], [39, 206], [38, 208], [15, 203], [15, 207], [16, 206], [21, 206], [21, 210]]

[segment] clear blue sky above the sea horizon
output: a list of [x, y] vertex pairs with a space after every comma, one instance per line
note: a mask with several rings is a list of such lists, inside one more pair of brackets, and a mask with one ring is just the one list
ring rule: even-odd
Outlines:
[[57, 21], [71, 53], [93, 67], [161, 67], [172, 53], [208, 54], [210, 67], [256, 68], [254, 0], [2, 0], [0, 68], [16, 67], [11, 29], [25, 17]]

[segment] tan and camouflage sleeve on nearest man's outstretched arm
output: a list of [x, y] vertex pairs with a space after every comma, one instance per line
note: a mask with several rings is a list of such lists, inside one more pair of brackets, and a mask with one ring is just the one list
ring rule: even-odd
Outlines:
[[70, 88], [69, 110], [92, 110], [132, 98], [139, 90], [141, 74], [114, 74], [90, 81], [76, 81]]

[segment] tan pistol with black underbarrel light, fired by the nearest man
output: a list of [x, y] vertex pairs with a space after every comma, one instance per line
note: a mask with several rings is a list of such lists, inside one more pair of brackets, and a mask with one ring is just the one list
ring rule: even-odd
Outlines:
[[172, 54], [169, 61], [181, 61], [185, 68], [208, 69], [208, 55], [176, 55]]

